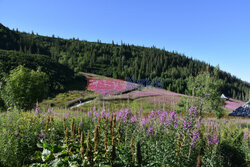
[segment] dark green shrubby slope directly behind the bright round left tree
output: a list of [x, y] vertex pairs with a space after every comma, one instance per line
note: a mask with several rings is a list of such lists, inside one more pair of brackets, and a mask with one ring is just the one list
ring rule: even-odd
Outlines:
[[63, 90], [65, 84], [74, 78], [72, 70], [48, 56], [0, 50], [0, 79], [19, 65], [32, 70], [41, 68], [41, 71], [49, 76], [48, 83], [52, 92]]

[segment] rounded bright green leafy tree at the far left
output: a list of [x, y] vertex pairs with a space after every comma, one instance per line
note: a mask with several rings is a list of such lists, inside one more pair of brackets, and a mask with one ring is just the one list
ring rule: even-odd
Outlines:
[[31, 109], [36, 101], [47, 97], [49, 77], [46, 73], [19, 66], [10, 71], [1, 90], [1, 98], [7, 107]]

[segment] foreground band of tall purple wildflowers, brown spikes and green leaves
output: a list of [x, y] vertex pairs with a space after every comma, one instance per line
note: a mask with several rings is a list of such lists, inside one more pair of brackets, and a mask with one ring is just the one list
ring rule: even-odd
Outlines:
[[197, 112], [14, 110], [0, 117], [0, 166], [247, 166], [248, 120]]

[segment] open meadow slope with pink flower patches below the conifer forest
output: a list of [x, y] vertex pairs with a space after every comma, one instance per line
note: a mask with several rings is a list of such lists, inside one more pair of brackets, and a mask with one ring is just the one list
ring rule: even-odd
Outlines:
[[[136, 83], [92, 73], [80, 73], [80, 75], [87, 79], [86, 88], [60, 93], [54, 98], [44, 100], [40, 106], [46, 109], [63, 107], [83, 112], [87, 112], [93, 107], [97, 110], [102, 110], [103, 107], [114, 110], [131, 108], [134, 112], [143, 109], [145, 113], [150, 113], [152, 110], [159, 109], [176, 111], [182, 100], [192, 98], [165, 89], [144, 87]], [[224, 112], [226, 114], [232, 112], [243, 104], [235, 99], [227, 99], [224, 104]], [[206, 113], [206, 116], [214, 117], [209, 113]]]

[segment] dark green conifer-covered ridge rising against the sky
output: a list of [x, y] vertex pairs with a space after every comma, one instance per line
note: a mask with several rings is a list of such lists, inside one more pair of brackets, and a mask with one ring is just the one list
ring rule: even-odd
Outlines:
[[[206, 70], [208, 64], [155, 47], [105, 44], [78, 39], [62, 39], [10, 30], [0, 24], [0, 49], [50, 56], [74, 71], [91, 72], [113, 78], [162, 78], [164, 88], [185, 93], [187, 78]], [[209, 66], [212, 71], [214, 67]], [[247, 100], [250, 84], [220, 71], [222, 92]]]

